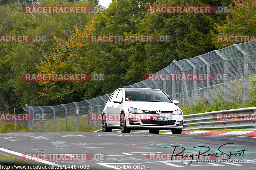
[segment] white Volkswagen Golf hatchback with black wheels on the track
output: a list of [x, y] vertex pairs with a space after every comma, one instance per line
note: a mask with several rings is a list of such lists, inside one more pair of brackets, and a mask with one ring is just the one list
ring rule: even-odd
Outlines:
[[160, 89], [119, 88], [102, 112], [102, 131], [148, 129], [149, 133], [159, 133], [171, 129], [173, 134], [181, 134], [183, 113], [177, 104]]

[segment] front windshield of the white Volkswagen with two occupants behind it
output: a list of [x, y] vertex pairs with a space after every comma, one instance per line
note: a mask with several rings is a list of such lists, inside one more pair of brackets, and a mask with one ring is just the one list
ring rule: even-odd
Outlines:
[[158, 90], [125, 90], [125, 101], [169, 102], [171, 100]]

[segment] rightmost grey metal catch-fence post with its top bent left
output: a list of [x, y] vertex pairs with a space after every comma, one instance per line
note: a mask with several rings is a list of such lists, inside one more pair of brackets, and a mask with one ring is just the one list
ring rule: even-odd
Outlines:
[[238, 44], [233, 44], [238, 51], [244, 55], [244, 101], [248, 101], [248, 53], [244, 51]]

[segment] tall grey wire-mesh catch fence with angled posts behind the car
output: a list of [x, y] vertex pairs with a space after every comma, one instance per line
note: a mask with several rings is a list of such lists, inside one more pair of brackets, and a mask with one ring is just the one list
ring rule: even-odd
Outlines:
[[[211, 74], [211, 80], [187, 77], [181, 80], [158, 80], [150, 77], [126, 87], [161, 89], [181, 105], [198, 101], [214, 104], [219, 101], [246, 102], [256, 91], [256, 42], [250, 41], [211, 51], [194, 58], [175, 61], [157, 72], [157, 75], [172, 73], [180, 75]], [[156, 75], [156, 74], [155, 74]], [[153, 75], [154, 77], [154, 75]], [[193, 77], [193, 76], [192, 76]], [[100, 121], [88, 121], [90, 113], [100, 114], [111, 93], [90, 100], [58, 106], [33, 107], [24, 110], [32, 114], [28, 121], [31, 131], [72, 131], [81, 127], [101, 128]], [[37, 119], [36, 119], [37, 116]], [[42, 118], [43, 116], [43, 118]], [[40, 118], [39, 118], [40, 117]]]

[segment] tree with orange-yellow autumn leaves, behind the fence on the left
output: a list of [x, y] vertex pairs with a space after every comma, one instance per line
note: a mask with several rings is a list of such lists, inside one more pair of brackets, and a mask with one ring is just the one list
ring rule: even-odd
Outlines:
[[[92, 30], [93, 22], [88, 23], [84, 29], [76, 29], [68, 34], [63, 32], [67, 39], [55, 38], [55, 52], [45, 55], [40, 59], [40, 63], [36, 64], [40, 74], [82, 74], [77, 72], [76, 67], [81, 64], [81, 59], [87, 57], [90, 44], [87, 37]], [[39, 95], [49, 98], [50, 100], [71, 99], [71, 96], [77, 96], [79, 92], [74, 88], [72, 81], [39, 81], [39, 85], [44, 86], [43, 92]], [[71, 97], [71, 98], [70, 98]], [[74, 98], [73, 98], [74, 99]], [[79, 99], [81, 100], [81, 99]]]

